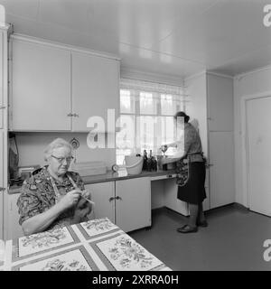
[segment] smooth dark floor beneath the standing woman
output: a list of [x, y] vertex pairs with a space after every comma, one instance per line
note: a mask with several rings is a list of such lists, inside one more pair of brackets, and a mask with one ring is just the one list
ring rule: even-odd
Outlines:
[[151, 229], [129, 235], [173, 270], [271, 270], [271, 261], [263, 257], [271, 218], [229, 205], [210, 210], [207, 220], [208, 228], [181, 234], [176, 228], [186, 218], [159, 209], [153, 211]]

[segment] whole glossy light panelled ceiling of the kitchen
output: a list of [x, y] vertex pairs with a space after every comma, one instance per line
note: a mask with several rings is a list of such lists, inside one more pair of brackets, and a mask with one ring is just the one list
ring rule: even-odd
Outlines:
[[271, 64], [266, 0], [0, 0], [14, 33], [105, 51], [121, 68], [187, 78]]

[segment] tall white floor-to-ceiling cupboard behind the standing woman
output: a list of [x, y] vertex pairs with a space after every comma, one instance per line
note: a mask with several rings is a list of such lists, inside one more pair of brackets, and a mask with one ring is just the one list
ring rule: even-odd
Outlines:
[[[185, 81], [192, 104], [188, 114], [199, 123], [201, 144], [208, 158], [206, 174], [209, 210], [235, 201], [233, 162], [233, 79], [203, 72]], [[230, 136], [231, 135], [231, 136]]]

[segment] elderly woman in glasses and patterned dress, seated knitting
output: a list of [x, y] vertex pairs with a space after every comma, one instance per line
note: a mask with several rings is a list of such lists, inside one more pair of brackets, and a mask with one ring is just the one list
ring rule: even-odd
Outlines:
[[48, 165], [23, 182], [17, 206], [25, 235], [88, 220], [90, 192], [77, 172], [68, 172], [71, 154], [68, 142], [55, 139], [45, 150]]

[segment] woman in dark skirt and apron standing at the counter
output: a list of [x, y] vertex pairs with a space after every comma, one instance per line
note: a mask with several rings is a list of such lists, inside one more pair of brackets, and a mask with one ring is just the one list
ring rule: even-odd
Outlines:
[[[180, 233], [192, 233], [198, 231], [198, 226], [208, 226], [202, 210], [202, 201], [206, 198], [204, 187], [206, 172], [200, 135], [192, 124], [189, 123], [190, 117], [182, 111], [177, 112], [174, 116], [177, 126], [183, 124], [182, 117], [184, 118], [184, 141], [177, 141], [173, 144], [163, 145], [162, 147], [165, 151], [167, 147], [178, 147], [179, 145], [182, 145], [182, 155], [165, 158], [163, 164], [176, 162], [177, 172], [180, 172], [182, 160], [184, 158], [187, 158], [188, 160], [188, 181], [182, 186], [178, 186], [177, 197], [179, 200], [189, 203], [190, 219], [189, 224], [182, 226], [182, 228], [177, 228], [177, 231]], [[181, 181], [181, 179], [178, 180], [178, 182]]]

